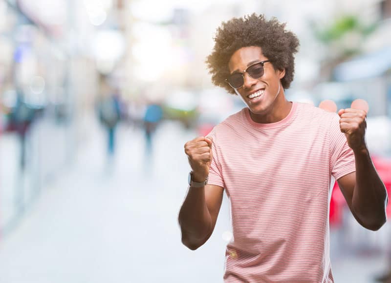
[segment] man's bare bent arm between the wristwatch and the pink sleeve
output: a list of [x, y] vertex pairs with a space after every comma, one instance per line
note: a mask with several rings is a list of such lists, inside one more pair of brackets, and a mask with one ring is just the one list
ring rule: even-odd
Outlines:
[[222, 197], [223, 188], [219, 186], [189, 187], [178, 217], [182, 243], [188, 248], [197, 249], [212, 235]]

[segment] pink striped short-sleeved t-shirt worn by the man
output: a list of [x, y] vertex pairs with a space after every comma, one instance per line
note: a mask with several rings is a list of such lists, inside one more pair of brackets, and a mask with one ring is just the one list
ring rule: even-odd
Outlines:
[[209, 184], [231, 204], [225, 283], [332, 283], [331, 175], [355, 171], [339, 116], [293, 102], [283, 120], [261, 124], [243, 108], [218, 124]]

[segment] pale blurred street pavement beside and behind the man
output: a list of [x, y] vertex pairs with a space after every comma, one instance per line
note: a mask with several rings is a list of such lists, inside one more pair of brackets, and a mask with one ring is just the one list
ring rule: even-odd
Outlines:
[[[165, 122], [148, 154], [143, 132], [120, 125], [109, 158], [104, 131], [88, 124], [73, 162], [42, 181], [39, 197], [0, 239], [0, 283], [222, 282], [231, 231], [225, 195], [209, 241], [196, 251], [180, 242], [190, 169], [183, 145], [196, 133]], [[335, 282], [374, 282], [387, 266], [381, 247], [389, 227], [367, 234], [351, 225], [331, 235]], [[362, 243], [369, 245], [357, 250]]]

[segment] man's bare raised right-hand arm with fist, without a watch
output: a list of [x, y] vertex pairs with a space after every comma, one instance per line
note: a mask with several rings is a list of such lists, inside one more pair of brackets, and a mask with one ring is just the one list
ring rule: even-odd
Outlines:
[[341, 109], [338, 112], [341, 132], [353, 150], [356, 172], [338, 179], [341, 191], [353, 216], [362, 226], [378, 230], [387, 221], [387, 190], [370, 159], [365, 142], [364, 110]]

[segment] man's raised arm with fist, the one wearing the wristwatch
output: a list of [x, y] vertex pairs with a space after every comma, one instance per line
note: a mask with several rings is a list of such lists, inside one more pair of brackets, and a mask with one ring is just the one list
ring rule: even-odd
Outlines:
[[[212, 162], [212, 140], [199, 137], [185, 144], [193, 171], [194, 182], [204, 182]], [[182, 243], [195, 250], [204, 244], [215, 228], [220, 210], [223, 188], [216, 185], [189, 186], [185, 201], [179, 211], [178, 222]]]

